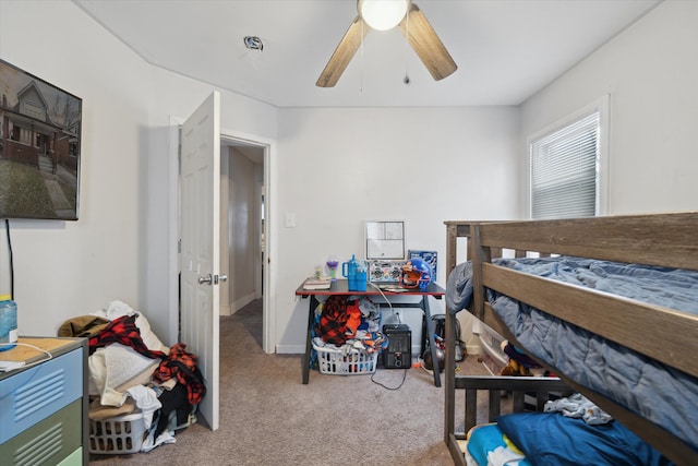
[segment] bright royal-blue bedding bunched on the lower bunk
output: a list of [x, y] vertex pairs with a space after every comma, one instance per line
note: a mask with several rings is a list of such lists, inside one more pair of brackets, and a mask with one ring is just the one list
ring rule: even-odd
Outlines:
[[590, 426], [557, 413], [522, 413], [502, 416], [497, 425], [537, 466], [672, 464], [617, 420]]

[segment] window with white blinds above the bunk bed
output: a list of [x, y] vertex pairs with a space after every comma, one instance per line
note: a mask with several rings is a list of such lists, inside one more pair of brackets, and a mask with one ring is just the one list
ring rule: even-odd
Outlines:
[[529, 140], [531, 218], [590, 217], [605, 211], [605, 103]]

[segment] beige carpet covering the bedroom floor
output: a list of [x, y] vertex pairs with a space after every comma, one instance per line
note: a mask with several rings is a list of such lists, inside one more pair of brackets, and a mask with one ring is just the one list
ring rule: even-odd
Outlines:
[[[133, 455], [92, 455], [91, 465], [453, 465], [443, 441], [444, 389], [421, 368], [371, 375], [311, 371], [300, 355], [261, 348], [255, 301], [220, 320], [220, 427], [194, 425], [174, 444]], [[184, 342], [185, 343], [185, 342]], [[477, 357], [464, 371], [484, 373]]]

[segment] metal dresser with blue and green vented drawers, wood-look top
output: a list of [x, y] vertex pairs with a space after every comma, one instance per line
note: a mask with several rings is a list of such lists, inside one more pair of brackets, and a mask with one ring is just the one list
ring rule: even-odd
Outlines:
[[87, 339], [20, 337], [19, 343], [0, 353], [0, 360], [25, 362], [0, 372], [2, 464], [88, 464]]

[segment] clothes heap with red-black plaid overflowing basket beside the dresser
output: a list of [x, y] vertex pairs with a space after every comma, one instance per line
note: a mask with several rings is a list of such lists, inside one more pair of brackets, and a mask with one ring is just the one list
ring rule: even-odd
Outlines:
[[183, 343], [165, 346], [142, 312], [111, 301], [65, 321], [58, 336], [88, 338], [91, 419], [143, 414], [141, 451], [174, 443], [174, 433], [196, 421], [206, 394], [197, 357]]

